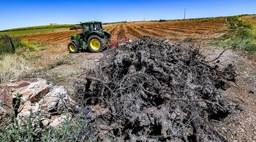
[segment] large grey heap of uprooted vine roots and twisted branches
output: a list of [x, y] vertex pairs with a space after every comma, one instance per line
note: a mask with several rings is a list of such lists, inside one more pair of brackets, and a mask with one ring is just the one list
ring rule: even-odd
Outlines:
[[219, 90], [236, 73], [218, 64], [196, 47], [143, 37], [107, 50], [78, 94], [86, 106], [109, 110], [96, 118], [108, 127], [105, 138], [225, 141], [210, 124], [233, 111]]

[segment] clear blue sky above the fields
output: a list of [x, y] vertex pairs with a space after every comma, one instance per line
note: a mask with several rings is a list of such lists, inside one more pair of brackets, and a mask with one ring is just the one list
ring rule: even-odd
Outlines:
[[50, 23], [79, 23], [255, 14], [256, 0], [1, 0], [0, 30]]

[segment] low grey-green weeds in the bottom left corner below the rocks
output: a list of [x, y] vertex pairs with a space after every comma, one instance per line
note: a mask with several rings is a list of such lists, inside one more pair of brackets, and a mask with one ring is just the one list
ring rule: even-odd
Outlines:
[[43, 126], [39, 119], [26, 117], [19, 125], [13, 117], [9, 125], [0, 127], [0, 141], [97, 141], [97, 130], [84, 114], [67, 118], [56, 128]]

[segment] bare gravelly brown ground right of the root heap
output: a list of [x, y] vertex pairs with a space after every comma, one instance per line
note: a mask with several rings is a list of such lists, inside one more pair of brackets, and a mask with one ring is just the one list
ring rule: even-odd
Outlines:
[[[204, 50], [209, 58], [216, 57], [222, 50], [217, 47]], [[245, 52], [227, 50], [220, 58], [224, 64], [236, 65], [236, 83], [225, 90], [225, 98], [238, 103], [242, 111], [214, 122], [217, 130], [229, 141], [256, 140], [256, 56]]]

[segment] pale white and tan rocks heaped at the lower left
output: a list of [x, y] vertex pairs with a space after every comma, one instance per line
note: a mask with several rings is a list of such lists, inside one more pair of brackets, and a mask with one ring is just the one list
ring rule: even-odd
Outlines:
[[0, 122], [15, 117], [20, 124], [26, 118], [40, 120], [42, 125], [56, 127], [70, 117], [74, 101], [62, 86], [45, 79], [16, 79], [0, 84]]

